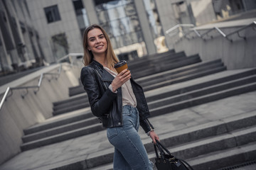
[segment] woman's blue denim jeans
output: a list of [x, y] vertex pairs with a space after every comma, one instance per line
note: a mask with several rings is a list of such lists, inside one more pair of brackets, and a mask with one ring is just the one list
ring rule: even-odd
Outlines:
[[146, 149], [139, 137], [139, 112], [123, 106], [123, 126], [107, 128], [107, 138], [114, 146], [114, 170], [152, 170]]

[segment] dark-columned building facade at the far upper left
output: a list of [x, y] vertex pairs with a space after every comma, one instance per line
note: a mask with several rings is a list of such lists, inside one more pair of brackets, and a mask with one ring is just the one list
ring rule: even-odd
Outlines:
[[0, 75], [42, 64], [45, 56], [26, 1], [0, 1], [0, 30]]

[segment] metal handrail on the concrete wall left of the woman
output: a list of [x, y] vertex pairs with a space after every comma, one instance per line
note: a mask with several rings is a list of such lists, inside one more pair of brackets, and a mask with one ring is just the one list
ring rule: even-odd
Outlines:
[[[78, 55], [82, 55], [82, 53], [70, 53], [70, 54], [65, 55], [64, 57], [60, 58], [57, 62], [59, 63], [60, 61], [65, 60], [66, 58], [69, 57], [70, 65], [73, 65], [73, 60], [71, 60], [70, 57], [76, 57]], [[5, 91], [5, 93], [4, 93], [3, 98], [1, 99], [0, 111], [1, 111], [2, 106], [4, 106], [4, 101], [6, 101], [6, 98], [8, 98], [9, 96], [11, 96], [13, 94], [13, 90], [26, 89], [26, 94], [21, 94], [22, 98], [24, 98], [28, 94], [28, 89], [35, 89], [35, 88], [37, 88], [37, 91], [33, 91], [34, 94], [36, 94], [39, 91], [39, 89], [40, 89], [40, 86], [42, 84], [42, 80], [43, 80], [44, 75], [52, 75], [52, 76], [57, 75], [57, 77], [55, 77], [55, 79], [58, 79], [58, 77], [60, 77], [61, 70], [62, 70], [62, 64], [60, 64], [60, 66], [58, 67], [58, 73], [47, 73], [47, 72], [42, 73], [41, 76], [40, 76], [40, 79], [38, 81], [38, 85], [37, 86], [21, 86], [21, 87], [10, 87], [10, 86], [8, 86], [6, 91]], [[50, 81], [50, 79], [48, 79], [48, 81]], [[9, 91], [11, 91], [11, 94], [8, 96]]]

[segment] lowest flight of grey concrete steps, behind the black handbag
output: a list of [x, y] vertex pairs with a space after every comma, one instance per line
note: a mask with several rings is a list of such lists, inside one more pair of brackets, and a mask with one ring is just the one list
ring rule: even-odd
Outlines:
[[[256, 111], [169, 132], [161, 135], [163, 138], [161, 142], [176, 157], [186, 159], [195, 170], [220, 169], [255, 161], [255, 123]], [[144, 146], [149, 153], [149, 159], [155, 162], [156, 156], [152, 144], [146, 143]], [[89, 165], [87, 169], [112, 169], [112, 159], [104, 159], [112, 156], [113, 153], [110, 152], [87, 159]]]

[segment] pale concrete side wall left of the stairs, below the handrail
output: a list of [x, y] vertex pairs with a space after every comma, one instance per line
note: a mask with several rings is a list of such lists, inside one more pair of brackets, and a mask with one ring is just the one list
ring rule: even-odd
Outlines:
[[[58, 79], [45, 75], [36, 94], [33, 91], [37, 89], [28, 89], [28, 94], [22, 98], [21, 95], [25, 94], [26, 90], [14, 90], [5, 101], [0, 111], [0, 164], [21, 152], [23, 129], [52, 117], [53, 102], [68, 98], [68, 88], [78, 86], [80, 67], [62, 65]], [[43, 72], [57, 73], [58, 67], [59, 64], [55, 64], [1, 86], [0, 98], [3, 98], [3, 89], [6, 89], [6, 86], [36, 86]]]

